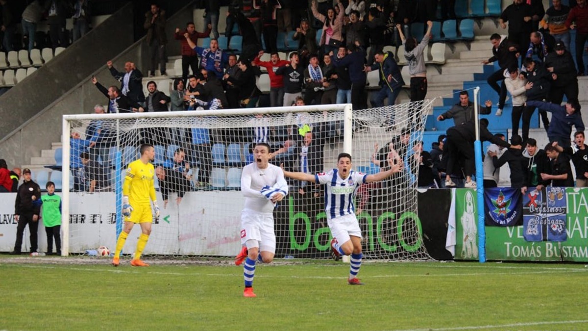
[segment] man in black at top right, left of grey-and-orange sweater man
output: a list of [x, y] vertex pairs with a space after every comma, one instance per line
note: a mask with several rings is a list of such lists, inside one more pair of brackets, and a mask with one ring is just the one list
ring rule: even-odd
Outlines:
[[502, 11], [498, 21], [506, 29], [509, 24], [509, 39], [517, 45], [529, 45], [529, 34], [533, 31], [533, 8], [524, 0], [514, 0]]

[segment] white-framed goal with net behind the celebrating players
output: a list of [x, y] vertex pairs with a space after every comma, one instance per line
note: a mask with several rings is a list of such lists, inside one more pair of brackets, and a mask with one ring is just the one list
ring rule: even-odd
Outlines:
[[[64, 116], [64, 251], [113, 249], [122, 230], [122, 183], [141, 144], [155, 146], [155, 188], [161, 217], [153, 219], [144, 254], [234, 256], [240, 249], [243, 166], [256, 142], [272, 146], [271, 163], [318, 173], [336, 167], [343, 151], [353, 169], [375, 174], [391, 162], [402, 173], [363, 184], [355, 208], [369, 259], [430, 259], [417, 217], [419, 141], [432, 101], [351, 110], [319, 105], [248, 110]], [[147, 174], [153, 176], [153, 174]], [[324, 188], [288, 180], [274, 211], [276, 257], [324, 259], [332, 238]], [[138, 228], [138, 227], [136, 227]], [[135, 250], [133, 229], [123, 254]]]

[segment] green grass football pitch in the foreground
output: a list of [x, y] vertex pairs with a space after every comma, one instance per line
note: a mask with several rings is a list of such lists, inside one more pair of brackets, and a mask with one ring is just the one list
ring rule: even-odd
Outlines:
[[588, 330], [583, 264], [0, 256], [0, 330]]

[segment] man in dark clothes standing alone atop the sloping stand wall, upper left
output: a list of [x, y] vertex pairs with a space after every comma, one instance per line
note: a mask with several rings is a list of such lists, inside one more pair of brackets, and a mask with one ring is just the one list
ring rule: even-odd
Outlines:
[[157, 4], [151, 4], [151, 10], [145, 13], [145, 24], [143, 28], [147, 31], [147, 45], [149, 46], [149, 57], [151, 58], [151, 69], [149, 70], [149, 77], [155, 75], [155, 68], [159, 60], [159, 72], [165, 76], [165, 44], [168, 39], [165, 37], [165, 11]]

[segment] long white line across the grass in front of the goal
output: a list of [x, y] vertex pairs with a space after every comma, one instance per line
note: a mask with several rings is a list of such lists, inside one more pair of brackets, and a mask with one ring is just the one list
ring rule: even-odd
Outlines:
[[[91, 268], [79, 268], [79, 267], [56, 267], [56, 266], [36, 266], [33, 264], [25, 265], [22, 267], [27, 268], [38, 268], [38, 269], [66, 269], [66, 270], [79, 270], [79, 271], [88, 271], [88, 272], [111, 272], [111, 273], [139, 273], [138, 271], [132, 270], [124, 270], [119, 268], [112, 267], [109, 269], [91, 269]], [[240, 268], [239, 268], [240, 272]], [[369, 278], [402, 278], [402, 277], [456, 277], [456, 276], [512, 276], [515, 274], [554, 274], [554, 273], [577, 273], [577, 272], [587, 272], [586, 269], [566, 269], [566, 270], [554, 270], [554, 271], [539, 271], [539, 272], [516, 272], [516, 273], [447, 273], [447, 274], [384, 274], [384, 275], [374, 275], [374, 276], [366, 276]], [[165, 274], [169, 276], [229, 276], [235, 277], [236, 274], [233, 273], [178, 273], [178, 272], [146, 272], [148, 274]], [[257, 277], [264, 277], [264, 278], [284, 278], [284, 279], [340, 279], [341, 277], [330, 277], [330, 276], [275, 276], [275, 275], [256, 275]]]

